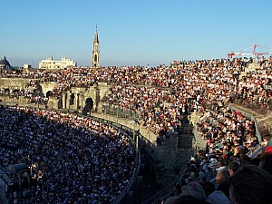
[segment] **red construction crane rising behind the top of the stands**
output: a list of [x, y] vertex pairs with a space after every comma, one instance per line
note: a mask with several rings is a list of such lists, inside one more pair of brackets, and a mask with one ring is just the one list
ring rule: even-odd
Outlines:
[[[257, 52], [257, 47], [260, 47], [260, 48], [265, 48], [265, 49], [269, 49], [270, 51], [267, 51], [267, 52]], [[246, 53], [248, 50], [252, 49], [253, 48], [253, 51], [252, 53]], [[238, 56], [246, 56], [246, 55], [251, 55], [252, 59], [257, 59], [259, 56], [263, 56], [263, 55], [266, 55], [266, 54], [272, 54], [271, 52], [271, 49], [272, 47], [271, 46], [263, 46], [263, 45], [258, 45], [258, 44], [255, 44], [251, 47], [248, 47], [247, 49], [241, 51], [241, 52], [230, 52], [228, 53], [228, 58], [232, 58], [233, 56], [235, 55], [238, 55]]]

